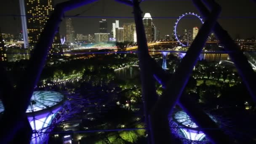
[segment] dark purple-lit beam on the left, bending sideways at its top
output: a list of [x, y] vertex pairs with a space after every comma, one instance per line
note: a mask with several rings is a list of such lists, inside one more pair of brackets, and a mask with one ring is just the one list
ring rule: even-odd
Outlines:
[[[40, 78], [40, 74], [47, 58], [47, 53], [52, 45], [53, 37], [58, 30], [64, 12], [95, 1], [96, 0], [69, 0], [55, 6], [50, 19], [45, 25], [44, 31], [41, 33], [39, 42], [35, 46], [33, 55], [29, 60], [28, 69], [24, 72], [24, 76], [21, 77], [20, 83], [17, 85], [16, 91], [14, 91], [13, 96], [15, 96], [15, 101], [12, 101], [13, 107], [8, 109], [8, 111], [5, 111], [5, 114], [2, 117], [3, 123], [0, 123], [1, 144], [6, 144], [14, 139], [14, 136], [20, 128], [23, 127], [24, 123], [27, 123], [24, 119], [20, 119], [21, 117], [25, 117], [30, 98]], [[10, 120], [10, 115], [12, 116], [12, 120]]]

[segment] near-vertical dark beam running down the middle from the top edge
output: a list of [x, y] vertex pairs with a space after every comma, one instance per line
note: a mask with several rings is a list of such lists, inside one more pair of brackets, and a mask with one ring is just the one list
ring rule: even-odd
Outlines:
[[[151, 128], [151, 122], [149, 121], [149, 112], [157, 101], [157, 93], [155, 88], [155, 79], [153, 77], [152, 66], [149, 64], [148, 60], [150, 58], [147, 39], [145, 35], [145, 29], [141, 16], [141, 8], [139, 6], [139, 0], [133, 0], [133, 14], [136, 24], [136, 34], [138, 43], [138, 57], [139, 57], [139, 67], [141, 74], [141, 85], [142, 85], [142, 99], [144, 104], [144, 115], [147, 124], [148, 141], [149, 144], [153, 144], [153, 131]], [[167, 126], [167, 125], [166, 125]], [[155, 131], [157, 133], [157, 131]], [[168, 135], [168, 134], [167, 134]], [[170, 136], [170, 135], [168, 135]]]

